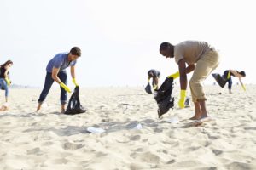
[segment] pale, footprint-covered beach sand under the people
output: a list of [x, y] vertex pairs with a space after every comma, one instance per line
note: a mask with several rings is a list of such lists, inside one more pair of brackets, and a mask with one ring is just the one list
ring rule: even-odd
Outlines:
[[[191, 104], [158, 119], [154, 94], [143, 88], [82, 88], [87, 112], [76, 116], [60, 114], [58, 88], [34, 113], [40, 92], [10, 90], [9, 111], [0, 112], [1, 170], [256, 169], [256, 86], [234, 86], [234, 94], [207, 86], [213, 121], [199, 127], [186, 127]], [[175, 87], [176, 104], [178, 94]]]

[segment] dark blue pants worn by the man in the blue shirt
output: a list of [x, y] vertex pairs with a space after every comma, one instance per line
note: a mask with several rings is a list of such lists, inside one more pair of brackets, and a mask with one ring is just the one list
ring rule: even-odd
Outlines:
[[[61, 79], [61, 82], [67, 85], [67, 73], [66, 71], [61, 71], [58, 73], [58, 77]], [[46, 73], [45, 82], [44, 82], [44, 89], [42, 93], [40, 94], [40, 97], [38, 99], [38, 103], [44, 102], [44, 99], [46, 98], [47, 94], [49, 93], [49, 89], [51, 88], [52, 84], [55, 82], [55, 80], [51, 77], [51, 72]], [[67, 103], [67, 92], [65, 89], [61, 88], [61, 105], [64, 105]]]

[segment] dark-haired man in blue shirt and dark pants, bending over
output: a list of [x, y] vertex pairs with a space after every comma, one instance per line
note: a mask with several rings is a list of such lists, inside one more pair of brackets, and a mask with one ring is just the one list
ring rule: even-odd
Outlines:
[[81, 56], [81, 50], [78, 47], [73, 47], [69, 53], [56, 54], [51, 59], [46, 67], [46, 77], [44, 82], [44, 89], [38, 99], [38, 109], [46, 99], [49, 89], [54, 82], [58, 82], [61, 87], [61, 113], [65, 112], [65, 105], [67, 103], [67, 92], [71, 93], [70, 88], [67, 87], [67, 72], [66, 68], [70, 66], [71, 77], [75, 86], [79, 86], [75, 79], [75, 65], [77, 59]]

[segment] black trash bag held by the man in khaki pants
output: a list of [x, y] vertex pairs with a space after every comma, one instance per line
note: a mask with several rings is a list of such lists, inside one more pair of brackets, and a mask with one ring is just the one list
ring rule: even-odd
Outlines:
[[173, 78], [166, 77], [159, 90], [154, 96], [158, 105], [158, 117], [166, 114], [174, 106], [174, 98], [172, 98]]

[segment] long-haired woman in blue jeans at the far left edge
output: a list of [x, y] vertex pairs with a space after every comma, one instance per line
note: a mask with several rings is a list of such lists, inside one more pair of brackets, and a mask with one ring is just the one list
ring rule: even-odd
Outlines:
[[11, 81], [9, 80], [9, 69], [13, 65], [11, 60], [6, 61], [3, 65], [0, 65], [0, 88], [5, 90], [5, 102], [0, 111], [5, 111], [8, 109], [8, 96], [9, 96], [9, 86]]

